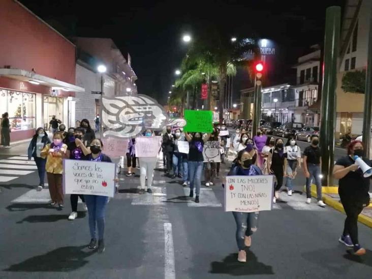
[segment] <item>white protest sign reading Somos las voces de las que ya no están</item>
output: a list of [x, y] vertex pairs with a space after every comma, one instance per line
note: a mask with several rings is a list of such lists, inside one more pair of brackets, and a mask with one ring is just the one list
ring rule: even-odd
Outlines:
[[64, 160], [64, 193], [113, 197], [115, 164]]

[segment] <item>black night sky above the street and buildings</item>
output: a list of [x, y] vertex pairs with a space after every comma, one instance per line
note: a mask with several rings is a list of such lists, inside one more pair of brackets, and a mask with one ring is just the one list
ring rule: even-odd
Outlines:
[[[345, 0], [314, 1], [100, 1], [20, 0], [66, 37], [112, 38], [132, 56], [138, 92], [166, 102], [174, 70], [187, 51], [181, 37], [196, 33], [203, 22], [231, 29], [231, 36], [252, 33], [277, 44], [272, 84], [286, 81], [298, 55], [322, 43], [325, 9]], [[276, 71], [277, 69], [277, 71]], [[250, 85], [241, 70], [234, 80], [234, 99]]]

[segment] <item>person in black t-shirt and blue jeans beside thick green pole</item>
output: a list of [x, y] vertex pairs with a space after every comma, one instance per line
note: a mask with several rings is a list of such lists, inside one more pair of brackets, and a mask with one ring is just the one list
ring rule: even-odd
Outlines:
[[317, 200], [320, 207], [325, 207], [326, 204], [322, 201], [322, 157], [320, 156], [319, 137], [311, 136], [311, 145], [307, 146], [303, 151], [303, 171], [306, 177], [306, 203], [312, 202], [311, 183], [312, 177], [317, 185]]

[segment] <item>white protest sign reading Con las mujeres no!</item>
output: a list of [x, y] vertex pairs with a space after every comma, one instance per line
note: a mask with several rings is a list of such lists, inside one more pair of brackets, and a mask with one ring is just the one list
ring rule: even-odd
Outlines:
[[227, 176], [225, 211], [256, 212], [271, 210], [272, 175]]

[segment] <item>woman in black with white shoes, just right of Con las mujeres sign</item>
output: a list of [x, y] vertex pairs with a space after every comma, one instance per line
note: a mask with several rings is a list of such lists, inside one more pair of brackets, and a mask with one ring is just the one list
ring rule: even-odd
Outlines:
[[275, 195], [273, 198], [273, 203], [276, 203], [276, 199], [279, 198], [279, 190], [283, 185], [283, 177], [285, 174], [284, 169], [284, 158], [287, 154], [284, 153], [283, 140], [276, 139], [274, 149], [271, 149], [269, 156], [267, 158], [267, 167], [269, 173], [275, 175], [276, 184], [275, 184]]

